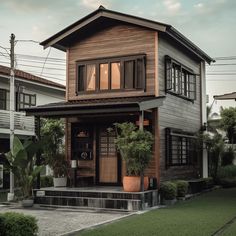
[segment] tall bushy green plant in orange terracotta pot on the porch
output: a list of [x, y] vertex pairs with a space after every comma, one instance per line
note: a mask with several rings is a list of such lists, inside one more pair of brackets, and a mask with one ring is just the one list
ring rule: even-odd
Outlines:
[[130, 122], [116, 123], [115, 127], [115, 144], [126, 164], [124, 191], [139, 192], [143, 190], [143, 186], [144, 190], [147, 190], [148, 177], [142, 179], [142, 176], [152, 157], [153, 135], [149, 131], [138, 129]]

